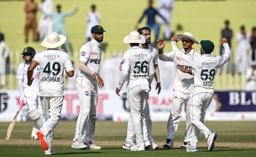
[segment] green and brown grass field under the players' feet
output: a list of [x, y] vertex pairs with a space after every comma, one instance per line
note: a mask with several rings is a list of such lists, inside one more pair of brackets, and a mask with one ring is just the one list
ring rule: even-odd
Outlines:
[[[43, 156], [39, 140], [31, 140], [32, 122], [19, 122], [14, 126], [10, 140], [6, 141], [6, 131], [10, 123], [0, 123], [0, 156]], [[164, 149], [167, 122], [153, 122], [154, 141], [160, 146], [156, 151], [132, 152], [122, 148], [126, 137], [126, 122], [97, 121], [95, 144], [101, 150], [75, 150], [71, 148], [75, 131], [75, 121], [60, 121], [54, 132], [54, 156], [255, 156], [256, 130], [254, 121], [205, 122], [218, 134], [213, 151], [208, 152], [204, 136], [200, 134], [198, 152], [180, 149], [185, 122], [181, 122], [174, 139], [174, 148]]]

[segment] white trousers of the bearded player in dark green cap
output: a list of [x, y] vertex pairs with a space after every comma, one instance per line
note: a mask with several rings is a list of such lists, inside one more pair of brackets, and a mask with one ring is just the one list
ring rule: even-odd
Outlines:
[[78, 76], [76, 81], [77, 92], [80, 102], [80, 113], [77, 118], [77, 126], [73, 141], [94, 143], [96, 122], [96, 109], [98, 101], [97, 81]]

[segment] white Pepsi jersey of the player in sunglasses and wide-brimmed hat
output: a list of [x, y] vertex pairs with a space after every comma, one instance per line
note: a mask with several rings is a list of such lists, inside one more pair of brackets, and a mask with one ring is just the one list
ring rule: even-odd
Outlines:
[[[181, 53], [186, 54], [184, 48], [180, 50]], [[192, 48], [192, 50], [187, 54], [188, 56], [191, 55], [197, 55], [200, 56], [199, 53], [195, 52], [195, 50]], [[192, 93], [193, 91], [193, 84], [194, 84], [194, 76], [190, 75], [188, 73], [184, 73], [177, 69], [177, 66], [181, 66], [184, 69], [188, 70], [194, 70], [194, 68], [187, 63], [185, 63], [182, 59], [175, 56], [174, 52], [169, 53], [162, 53], [161, 55], [158, 55], [160, 60], [163, 61], [171, 61], [174, 63], [174, 87], [173, 90], [177, 90], [179, 92], [184, 93]]]

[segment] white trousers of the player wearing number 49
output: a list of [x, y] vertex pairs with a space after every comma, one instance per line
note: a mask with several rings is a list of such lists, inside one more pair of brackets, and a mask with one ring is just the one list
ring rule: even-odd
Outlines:
[[41, 131], [46, 135], [49, 148], [52, 146], [53, 131], [59, 123], [61, 107], [64, 96], [60, 97], [41, 97], [41, 104], [43, 109], [44, 125]]

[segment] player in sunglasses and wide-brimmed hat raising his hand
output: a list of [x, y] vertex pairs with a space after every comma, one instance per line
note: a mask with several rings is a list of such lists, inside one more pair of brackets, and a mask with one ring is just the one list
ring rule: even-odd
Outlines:
[[[180, 52], [188, 56], [200, 56], [199, 53], [195, 52], [192, 48], [194, 43], [199, 44], [195, 40], [195, 36], [192, 33], [185, 32], [184, 34], [178, 34], [178, 39], [182, 40], [183, 48]], [[174, 52], [163, 53], [163, 48], [166, 42], [163, 39], [158, 40], [158, 56], [160, 60], [172, 61], [174, 63], [174, 87], [173, 87], [173, 99], [172, 99], [172, 110], [167, 122], [168, 136], [164, 148], [171, 148], [174, 146], [173, 140], [175, 133], [178, 129], [179, 122], [182, 114], [182, 105], [185, 104], [186, 112], [186, 130], [184, 133], [183, 145], [181, 148], [188, 148], [192, 139], [192, 124], [189, 116], [189, 103], [191, 100], [191, 93], [194, 84], [194, 68], [189, 66], [184, 60], [178, 58]], [[199, 131], [197, 132], [199, 136]]]

